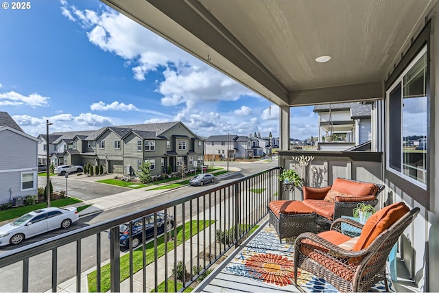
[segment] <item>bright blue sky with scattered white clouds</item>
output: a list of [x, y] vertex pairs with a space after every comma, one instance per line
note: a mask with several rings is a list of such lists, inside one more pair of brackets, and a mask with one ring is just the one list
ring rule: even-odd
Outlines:
[[[278, 136], [278, 108], [100, 1], [0, 10], [0, 110], [34, 136], [182, 121], [195, 134]], [[292, 108], [291, 137], [318, 135]]]

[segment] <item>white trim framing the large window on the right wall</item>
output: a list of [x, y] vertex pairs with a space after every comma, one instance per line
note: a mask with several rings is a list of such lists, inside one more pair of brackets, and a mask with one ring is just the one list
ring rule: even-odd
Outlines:
[[[420, 58], [422, 58], [422, 56], [427, 52], [427, 46], [424, 46], [423, 49], [421, 49], [418, 54], [416, 55], [416, 58], [414, 58], [412, 60], [412, 62], [410, 62], [409, 65], [407, 65], [407, 67], [404, 69], [403, 72], [401, 72], [401, 74], [398, 76], [398, 78], [394, 81], [394, 83], [392, 84], [392, 86], [390, 86], [390, 88], [385, 92], [385, 108], [386, 108], [386, 116], [389, 116], [389, 111], [390, 111], [390, 93], [392, 93], [392, 91], [394, 90], [394, 88], [396, 86], [398, 86], [399, 83], [401, 83], [401, 91], [403, 91], [404, 88], [404, 84], [403, 84], [403, 78], [404, 76], [407, 74], [408, 71], [410, 71], [410, 69], [412, 69], [412, 67], [416, 64], [416, 62], [418, 62], [418, 60], [420, 60]], [[403, 108], [401, 108], [401, 112], [403, 111]], [[428, 113], [427, 113], [428, 115]], [[402, 113], [401, 113], [401, 117], [402, 117]], [[401, 135], [403, 135], [403, 121], [401, 121]], [[393, 169], [390, 167], [390, 119], [386, 119], [385, 121], [385, 149], [386, 149], [386, 153], [388, 155], [385, 156], [385, 169], [389, 172], [392, 172], [393, 174], [395, 174], [396, 176], [399, 176], [401, 178], [403, 178], [404, 180], [409, 181], [410, 183], [413, 183], [414, 185], [417, 185], [418, 187], [427, 190], [427, 184], [425, 183], [421, 183], [420, 181], [414, 179], [414, 178], [410, 178], [410, 176], [407, 176], [405, 174], [403, 174], [403, 172], [398, 172], [397, 170]], [[401, 163], [403, 162], [403, 152], [401, 152]], [[402, 167], [402, 166], [401, 166]]]

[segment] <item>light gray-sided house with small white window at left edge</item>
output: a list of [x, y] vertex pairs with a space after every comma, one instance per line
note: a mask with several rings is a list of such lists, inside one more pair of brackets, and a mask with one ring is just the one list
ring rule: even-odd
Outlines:
[[38, 141], [0, 112], [0, 204], [37, 194]]

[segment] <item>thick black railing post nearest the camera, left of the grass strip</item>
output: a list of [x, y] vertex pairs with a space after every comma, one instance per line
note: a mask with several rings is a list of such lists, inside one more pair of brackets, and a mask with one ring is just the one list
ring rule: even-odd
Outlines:
[[110, 229], [110, 291], [121, 291], [119, 226]]

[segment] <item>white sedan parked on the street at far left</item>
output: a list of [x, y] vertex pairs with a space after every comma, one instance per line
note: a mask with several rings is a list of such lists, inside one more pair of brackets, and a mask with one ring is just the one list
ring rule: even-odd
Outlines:
[[31, 211], [0, 227], [0, 246], [19, 244], [26, 238], [56, 228], [68, 228], [78, 219], [75, 207], [48, 207]]

